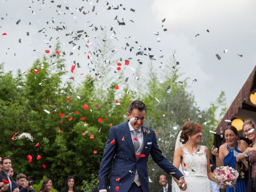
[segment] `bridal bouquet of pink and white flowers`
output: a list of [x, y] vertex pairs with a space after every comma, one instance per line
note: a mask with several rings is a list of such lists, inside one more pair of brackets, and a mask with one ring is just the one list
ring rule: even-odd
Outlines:
[[219, 184], [221, 191], [226, 191], [227, 186], [235, 187], [238, 178], [238, 172], [232, 167], [221, 166], [216, 168], [215, 179]]

